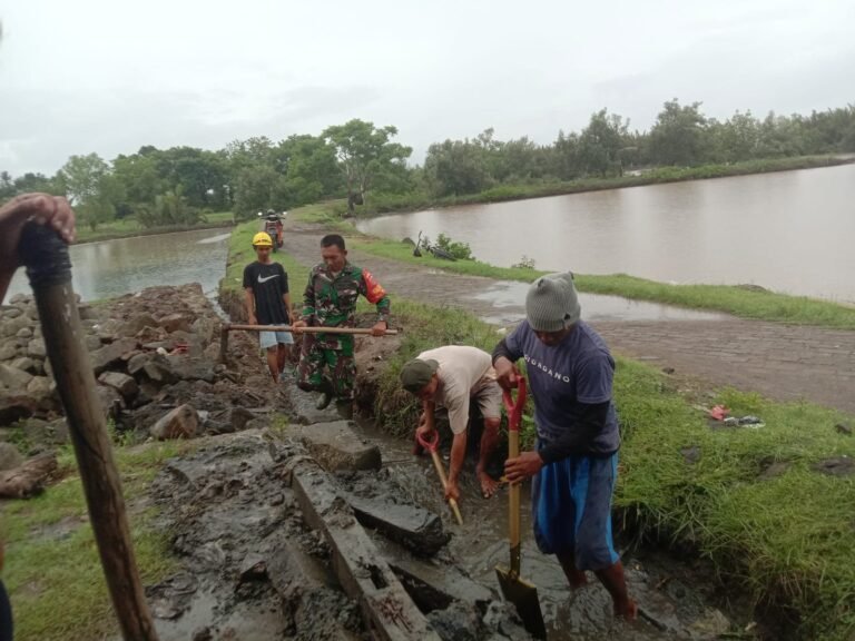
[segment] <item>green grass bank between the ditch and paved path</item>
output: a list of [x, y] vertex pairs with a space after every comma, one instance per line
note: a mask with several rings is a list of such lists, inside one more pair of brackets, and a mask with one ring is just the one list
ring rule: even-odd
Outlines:
[[[247, 247], [253, 231], [252, 226], [235, 231], [227, 287], [239, 287], [239, 270], [252, 260]], [[304, 266], [282, 253], [275, 259], [302, 285]], [[395, 325], [405, 327], [404, 339], [383, 374], [375, 414], [400, 434], [416, 418], [412, 397], [397, 384], [401, 365], [443, 344], [490, 351], [497, 334], [468, 313], [401, 298], [393, 298], [393, 314]], [[855, 456], [855, 440], [835, 431], [835, 424], [853, 424], [855, 417], [809, 403], [782, 404], [721, 389], [704, 401], [724, 403], [737, 416], [759, 415], [766, 425], [712, 430], [692, 407], [698, 400], [675, 387], [656, 369], [619, 359], [619, 522], [637, 536], [679, 543], [710, 559], [756, 602], [795, 610], [800, 638], [851, 639], [855, 482], [812, 466], [832, 456]], [[524, 440], [531, 438], [527, 421]], [[690, 448], [697, 456], [688, 455]]]

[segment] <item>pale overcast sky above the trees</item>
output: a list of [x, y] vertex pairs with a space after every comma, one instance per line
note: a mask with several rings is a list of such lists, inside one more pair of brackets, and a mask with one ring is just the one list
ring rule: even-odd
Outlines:
[[[416, 8], [416, 6], [419, 8]], [[0, 170], [351, 118], [428, 146], [855, 102], [855, 0], [0, 0]]]

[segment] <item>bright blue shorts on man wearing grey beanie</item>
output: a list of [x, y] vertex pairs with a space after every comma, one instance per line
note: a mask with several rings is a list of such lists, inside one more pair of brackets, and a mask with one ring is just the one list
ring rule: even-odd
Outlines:
[[611, 494], [618, 454], [568, 456], [544, 465], [531, 486], [534, 540], [544, 554], [572, 554], [579, 570], [618, 562], [611, 540]]

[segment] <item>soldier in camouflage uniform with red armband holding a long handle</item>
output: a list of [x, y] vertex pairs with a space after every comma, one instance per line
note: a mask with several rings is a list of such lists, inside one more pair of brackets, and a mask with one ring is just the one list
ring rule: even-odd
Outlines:
[[[362, 294], [377, 306], [377, 323], [371, 328], [373, 336], [382, 336], [389, 328], [389, 296], [370, 272], [347, 262], [344, 238], [330, 234], [321, 239], [320, 263], [312, 268], [303, 295], [303, 315], [293, 324], [299, 327], [353, 327], [356, 299]], [[356, 363], [353, 355], [353, 335], [304, 334], [299, 355], [297, 385], [306, 392], [321, 392], [317, 408], [323, 410], [333, 397], [340, 412], [352, 414], [353, 384]]]

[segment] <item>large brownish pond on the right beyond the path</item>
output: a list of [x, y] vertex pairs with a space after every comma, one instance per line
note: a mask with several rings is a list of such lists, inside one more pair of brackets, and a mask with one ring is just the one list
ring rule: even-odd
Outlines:
[[464, 240], [488, 263], [753, 283], [855, 302], [855, 165], [449, 207], [360, 221], [387, 238]]

